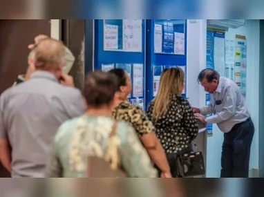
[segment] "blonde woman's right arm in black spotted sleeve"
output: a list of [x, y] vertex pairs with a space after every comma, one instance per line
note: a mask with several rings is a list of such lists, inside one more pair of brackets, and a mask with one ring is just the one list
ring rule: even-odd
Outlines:
[[187, 131], [190, 136], [190, 141], [194, 140], [198, 134], [198, 123], [194, 118], [194, 112], [191, 109], [189, 102], [186, 100], [183, 109], [183, 125], [185, 127], [185, 131]]

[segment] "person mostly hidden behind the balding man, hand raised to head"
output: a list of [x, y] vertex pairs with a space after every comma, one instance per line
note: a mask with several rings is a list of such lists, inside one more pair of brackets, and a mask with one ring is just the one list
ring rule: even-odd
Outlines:
[[[20, 84], [30, 78], [30, 75], [36, 70], [35, 68], [35, 47], [39, 44], [40, 41], [43, 39], [48, 38], [47, 35], [38, 35], [35, 37], [35, 44], [30, 44], [28, 49], [31, 50], [30, 54], [28, 55], [28, 69], [26, 71], [26, 75], [19, 75], [14, 85]], [[64, 67], [62, 71], [64, 74], [68, 74], [70, 69], [73, 67], [73, 63], [75, 62], [75, 57], [70, 50], [64, 46], [65, 54], [64, 54]]]

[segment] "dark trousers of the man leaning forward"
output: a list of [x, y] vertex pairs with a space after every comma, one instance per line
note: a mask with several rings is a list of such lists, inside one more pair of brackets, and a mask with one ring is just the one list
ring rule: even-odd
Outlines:
[[250, 147], [254, 135], [251, 118], [224, 134], [221, 178], [248, 178]]

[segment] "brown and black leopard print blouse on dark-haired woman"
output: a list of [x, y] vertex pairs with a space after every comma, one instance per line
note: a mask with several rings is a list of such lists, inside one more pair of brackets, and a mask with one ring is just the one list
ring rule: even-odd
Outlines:
[[131, 124], [139, 137], [153, 131], [155, 132], [155, 127], [147, 117], [147, 114], [140, 107], [130, 102], [122, 102], [115, 107], [113, 109], [113, 118], [115, 120], [124, 120]]

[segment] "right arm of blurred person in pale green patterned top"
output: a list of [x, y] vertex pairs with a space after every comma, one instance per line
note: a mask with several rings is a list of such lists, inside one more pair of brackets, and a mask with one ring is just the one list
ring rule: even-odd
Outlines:
[[129, 174], [129, 177], [134, 178], [155, 178], [157, 177], [157, 171], [151, 165], [151, 160], [144, 149], [138, 136], [135, 134], [134, 129], [131, 126], [124, 126], [120, 129], [121, 132], [126, 130], [124, 140], [120, 144], [120, 156], [122, 167]]

